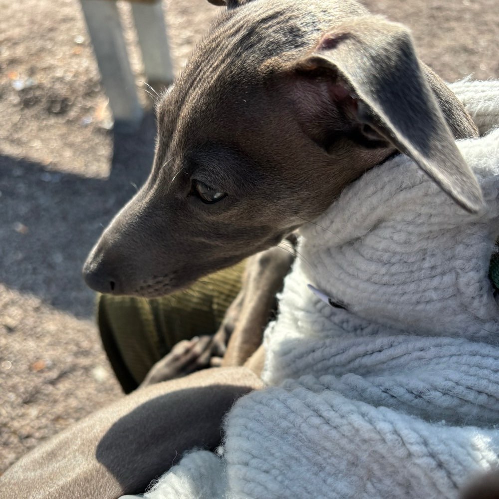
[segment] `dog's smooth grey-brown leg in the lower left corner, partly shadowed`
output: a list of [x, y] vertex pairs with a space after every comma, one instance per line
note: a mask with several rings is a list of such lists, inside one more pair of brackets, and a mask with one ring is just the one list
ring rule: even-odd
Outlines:
[[0, 497], [115, 499], [140, 494], [193, 448], [215, 450], [245, 367], [213, 368], [136, 390], [71, 425], [0, 476]]

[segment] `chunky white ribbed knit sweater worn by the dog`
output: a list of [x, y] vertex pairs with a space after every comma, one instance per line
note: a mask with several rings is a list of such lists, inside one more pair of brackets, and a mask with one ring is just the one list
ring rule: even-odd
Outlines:
[[499, 83], [453, 89], [488, 132], [459, 143], [487, 208], [466, 213], [404, 156], [346, 189], [301, 230], [268, 388], [235, 404], [218, 455], [191, 452], [146, 498], [457, 498], [498, 464]]

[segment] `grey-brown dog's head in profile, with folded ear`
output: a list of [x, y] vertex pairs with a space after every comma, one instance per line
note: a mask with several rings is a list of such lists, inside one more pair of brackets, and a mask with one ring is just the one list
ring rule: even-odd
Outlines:
[[453, 139], [476, 129], [406, 28], [355, 1], [227, 3], [158, 104], [152, 172], [90, 253], [90, 287], [184, 287], [277, 244], [397, 151], [480, 209]]

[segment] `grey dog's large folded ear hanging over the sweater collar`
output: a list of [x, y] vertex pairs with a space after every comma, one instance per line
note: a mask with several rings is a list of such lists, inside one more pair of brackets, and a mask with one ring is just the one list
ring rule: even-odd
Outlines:
[[378, 16], [352, 19], [324, 34], [291, 69], [301, 81], [298, 98], [322, 108], [320, 121], [331, 122], [333, 116], [336, 123], [339, 118], [356, 123], [357, 139], [361, 136], [372, 147], [391, 143], [467, 211], [482, 208], [480, 186], [456, 146], [404, 26]]

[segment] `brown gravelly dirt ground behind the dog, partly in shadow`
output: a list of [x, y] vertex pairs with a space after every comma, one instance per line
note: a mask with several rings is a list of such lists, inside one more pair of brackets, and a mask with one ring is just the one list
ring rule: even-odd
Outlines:
[[[497, 0], [367, 5], [409, 25], [421, 58], [448, 81], [499, 77]], [[179, 71], [218, 8], [206, 0], [164, 7]], [[141, 81], [129, 5], [120, 10]], [[0, 13], [1, 474], [43, 439], [122, 396], [80, 269], [147, 175], [155, 127], [148, 112], [133, 135], [111, 129], [77, 0], [0, 0]]]

